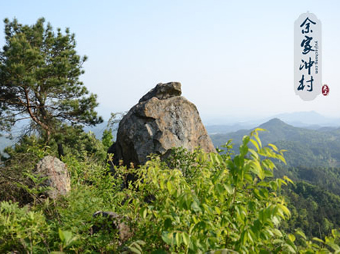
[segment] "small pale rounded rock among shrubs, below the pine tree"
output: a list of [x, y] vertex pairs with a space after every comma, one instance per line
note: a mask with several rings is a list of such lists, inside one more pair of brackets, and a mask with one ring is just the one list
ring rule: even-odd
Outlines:
[[46, 193], [51, 199], [56, 199], [58, 195], [65, 195], [71, 190], [69, 173], [65, 163], [53, 156], [45, 156], [37, 163], [35, 173], [40, 177], [47, 177], [42, 185], [51, 187]]

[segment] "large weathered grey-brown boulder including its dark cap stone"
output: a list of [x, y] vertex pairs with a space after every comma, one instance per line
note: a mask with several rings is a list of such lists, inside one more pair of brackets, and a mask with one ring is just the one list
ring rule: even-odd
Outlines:
[[168, 156], [172, 147], [216, 152], [196, 106], [180, 96], [180, 87], [179, 82], [157, 84], [128, 111], [108, 150], [114, 164], [123, 160], [124, 165], [142, 165], [150, 154]]

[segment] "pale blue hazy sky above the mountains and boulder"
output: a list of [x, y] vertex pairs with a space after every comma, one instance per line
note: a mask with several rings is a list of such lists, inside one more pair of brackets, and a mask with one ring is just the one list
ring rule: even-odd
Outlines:
[[[305, 102], [293, 87], [294, 21], [323, 26], [323, 84]], [[82, 80], [99, 113], [127, 111], [159, 82], [179, 81], [203, 120], [317, 111], [340, 118], [340, 1], [1, 1], [0, 18], [76, 34]], [[3, 30], [3, 24], [1, 24]], [[0, 45], [4, 44], [3, 32]]]

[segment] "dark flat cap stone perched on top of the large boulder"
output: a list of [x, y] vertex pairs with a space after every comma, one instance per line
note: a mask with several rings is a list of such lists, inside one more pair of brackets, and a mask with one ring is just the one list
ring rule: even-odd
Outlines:
[[182, 94], [180, 87], [180, 82], [159, 83], [148, 91], [148, 93], [139, 100], [139, 103], [150, 100], [153, 97], [158, 98], [158, 100], [167, 100], [174, 96], [180, 96]]

